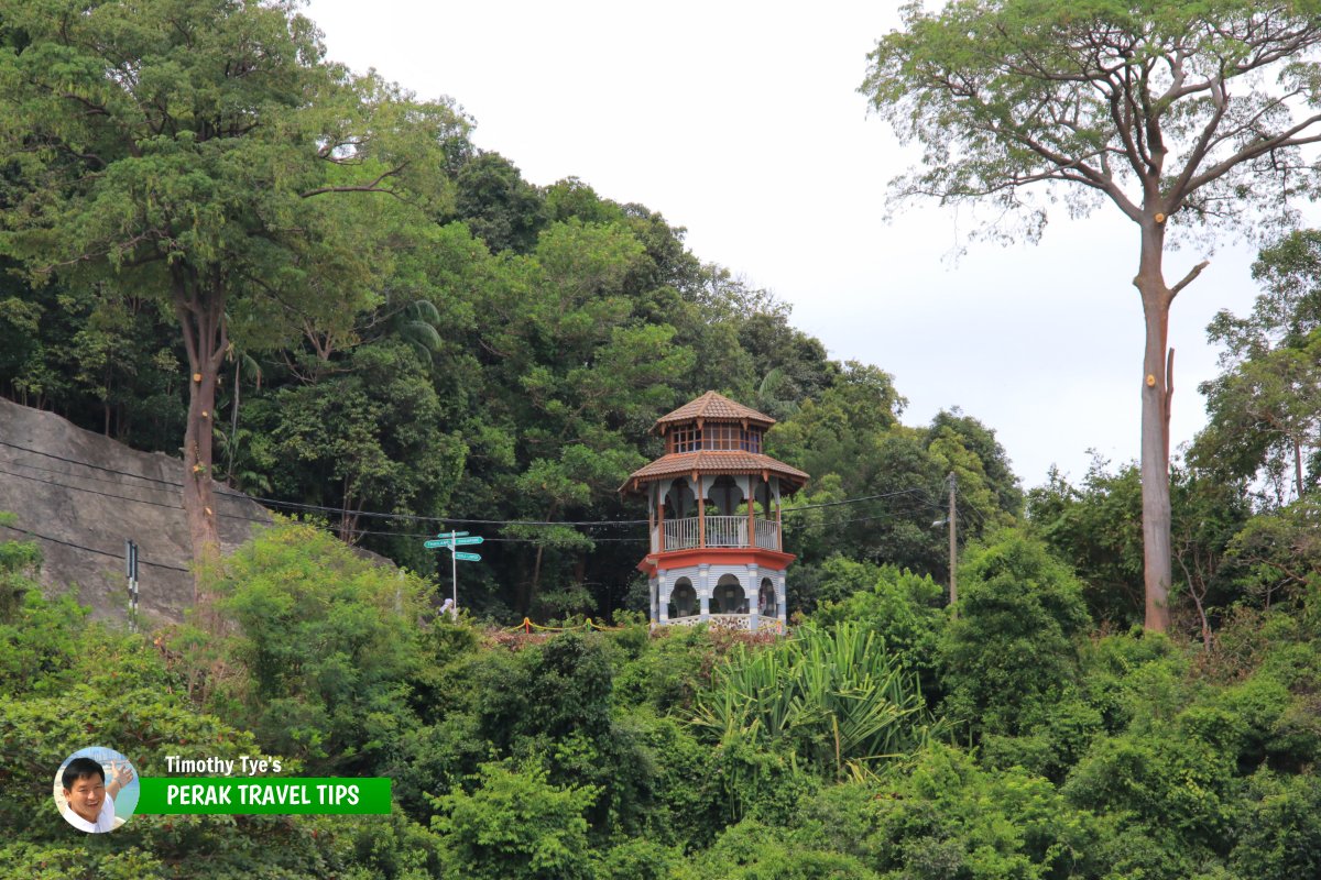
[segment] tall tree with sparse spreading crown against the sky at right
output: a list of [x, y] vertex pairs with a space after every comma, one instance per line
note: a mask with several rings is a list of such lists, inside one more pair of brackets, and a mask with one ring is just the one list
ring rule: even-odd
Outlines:
[[1148, 629], [1169, 625], [1169, 309], [1206, 267], [1170, 285], [1166, 234], [1287, 220], [1310, 187], [1300, 148], [1321, 140], [1316, 12], [1305, 0], [911, 4], [869, 55], [863, 91], [923, 148], [896, 199], [988, 199], [1021, 220], [988, 227], [1001, 240], [1040, 237], [1041, 190], [1065, 190], [1074, 214], [1108, 201], [1137, 226]]

